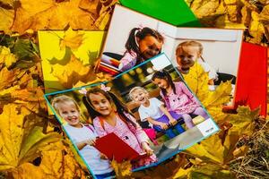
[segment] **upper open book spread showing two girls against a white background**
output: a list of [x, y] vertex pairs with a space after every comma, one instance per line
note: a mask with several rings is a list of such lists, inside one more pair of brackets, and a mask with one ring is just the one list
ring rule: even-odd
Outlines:
[[116, 76], [163, 52], [183, 74], [200, 64], [215, 90], [221, 81], [236, 84], [242, 37], [242, 30], [178, 28], [116, 5], [99, 69]]

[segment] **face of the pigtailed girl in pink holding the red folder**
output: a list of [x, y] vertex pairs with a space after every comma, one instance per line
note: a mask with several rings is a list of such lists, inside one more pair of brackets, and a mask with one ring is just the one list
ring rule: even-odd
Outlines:
[[92, 107], [100, 113], [100, 115], [110, 115], [113, 111], [113, 108], [108, 100], [103, 94], [101, 93], [91, 93], [89, 95], [91, 100]]

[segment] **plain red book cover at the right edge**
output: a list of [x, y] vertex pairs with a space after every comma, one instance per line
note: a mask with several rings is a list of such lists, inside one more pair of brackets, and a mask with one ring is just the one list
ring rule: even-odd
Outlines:
[[266, 115], [266, 98], [267, 48], [243, 42], [234, 105], [261, 107], [260, 115]]

